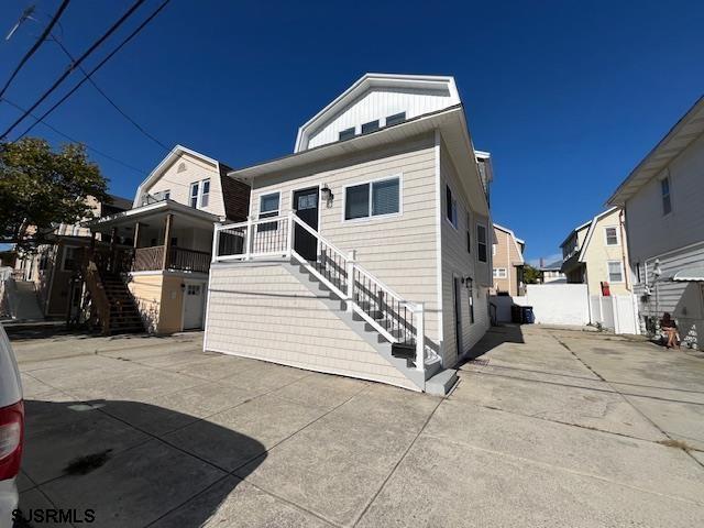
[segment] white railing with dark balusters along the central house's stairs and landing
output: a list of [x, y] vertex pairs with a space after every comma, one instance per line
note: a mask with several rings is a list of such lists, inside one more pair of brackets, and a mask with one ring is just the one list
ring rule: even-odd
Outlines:
[[[298, 228], [298, 229], [297, 229]], [[296, 233], [308, 233], [317, 243], [315, 260], [296, 250]], [[302, 221], [295, 211], [288, 215], [246, 222], [216, 223], [212, 262], [252, 261], [287, 257], [300, 263], [309, 273], [345, 301], [391, 343], [413, 346], [416, 370], [425, 370], [425, 310], [422, 302], [410, 302], [364, 270], [355, 251], [343, 251]]]

